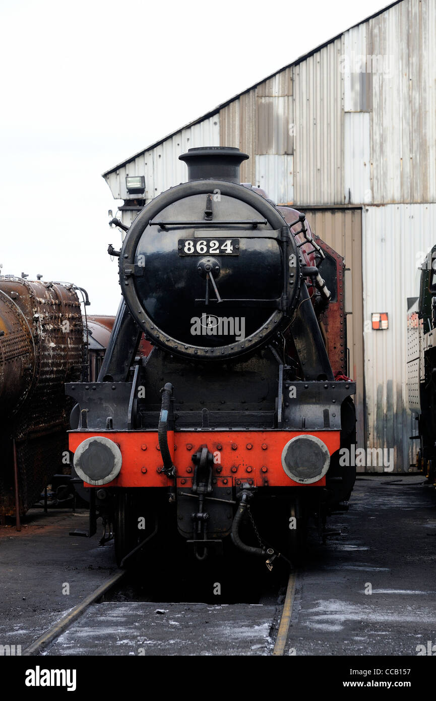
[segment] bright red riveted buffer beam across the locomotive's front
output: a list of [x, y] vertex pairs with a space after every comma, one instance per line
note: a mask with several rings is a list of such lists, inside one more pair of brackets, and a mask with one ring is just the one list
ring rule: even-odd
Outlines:
[[[74, 431], [69, 433], [69, 449], [74, 452], [83, 440], [93, 435], [104, 436], [118, 444], [123, 456], [121, 472], [112, 482], [104, 486], [168, 486], [163, 472], [161, 453], [158, 450], [157, 431]], [[324, 441], [330, 455], [339, 450], [339, 431], [189, 431], [168, 433], [168, 444], [174, 446], [172, 459], [177, 468], [177, 486], [191, 486], [193, 462], [191, 456], [203, 445], [212, 452], [219, 452], [220, 462], [214, 465], [217, 486], [238, 484], [238, 479], [257, 486], [324, 486], [325, 477], [319, 482], [302, 485], [287, 477], [282, 468], [281, 456], [285, 444], [297, 435], [313, 435]], [[191, 449], [189, 449], [189, 444]], [[219, 449], [219, 445], [222, 447]], [[251, 445], [252, 448], [247, 448]], [[262, 448], [266, 445], [266, 449]], [[144, 449], [145, 446], [145, 449]], [[236, 449], [232, 449], [236, 446]], [[267, 471], [262, 472], [262, 467]], [[147, 468], [147, 472], [142, 472]], [[222, 470], [219, 470], [222, 468]], [[236, 468], [233, 472], [232, 468]], [[247, 468], [252, 468], [248, 470]], [[182, 479], [186, 482], [182, 483]], [[227, 482], [223, 482], [226, 479]], [[85, 486], [91, 486], [85, 484]]]

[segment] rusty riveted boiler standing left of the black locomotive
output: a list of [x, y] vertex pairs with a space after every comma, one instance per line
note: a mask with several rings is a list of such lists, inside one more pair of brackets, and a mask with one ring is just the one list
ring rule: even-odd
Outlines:
[[74, 285], [0, 276], [0, 518], [67, 469], [64, 383], [81, 378], [85, 351]]

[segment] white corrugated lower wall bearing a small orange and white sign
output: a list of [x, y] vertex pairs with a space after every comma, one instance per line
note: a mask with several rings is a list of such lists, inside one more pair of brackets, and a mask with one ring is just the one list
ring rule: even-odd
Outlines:
[[[435, 243], [436, 204], [365, 207], [362, 215], [365, 389], [368, 445], [395, 450], [395, 471], [409, 470], [416, 422], [407, 409], [407, 297], [416, 268]], [[372, 331], [372, 312], [389, 328]]]

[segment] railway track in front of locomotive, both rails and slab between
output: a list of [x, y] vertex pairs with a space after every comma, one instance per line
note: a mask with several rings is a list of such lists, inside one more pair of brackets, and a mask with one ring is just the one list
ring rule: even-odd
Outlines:
[[259, 604], [105, 599], [125, 583], [125, 578], [125, 571], [116, 571], [22, 654], [285, 654], [296, 585], [294, 573], [287, 581], [283, 603], [279, 603], [283, 596], [278, 596], [275, 602], [270, 597]]

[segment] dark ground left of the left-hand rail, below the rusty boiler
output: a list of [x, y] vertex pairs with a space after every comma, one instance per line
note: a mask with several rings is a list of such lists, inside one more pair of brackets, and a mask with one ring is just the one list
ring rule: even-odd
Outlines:
[[24, 650], [116, 570], [99, 534], [68, 535], [87, 527], [88, 512], [41, 509], [28, 512], [20, 532], [0, 527], [0, 645]]

